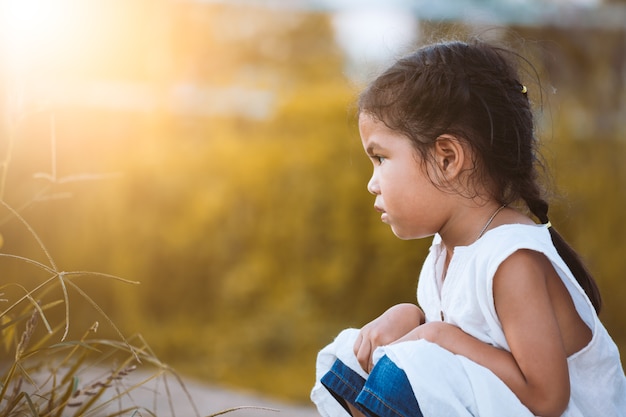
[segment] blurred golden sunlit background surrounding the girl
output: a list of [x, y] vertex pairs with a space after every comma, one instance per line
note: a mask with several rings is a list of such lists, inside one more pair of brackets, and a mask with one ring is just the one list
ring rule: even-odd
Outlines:
[[[415, 300], [429, 242], [399, 241], [372, 210], [354, 101], [416, 45], [471, 34], [541, 75], [552, 223], [626, 352], [626, 2], [1, 5], [0, 197], [61, 270], [140, 281], [80, 285], [182, 374], [307, 402], [318, 349]], [[45, 262], [6, 208], [0, 234], [2, 252]], [[41, 280], [0, 264], [2, 283]], [[72, 332], [101, 320], [70, 298]]]

